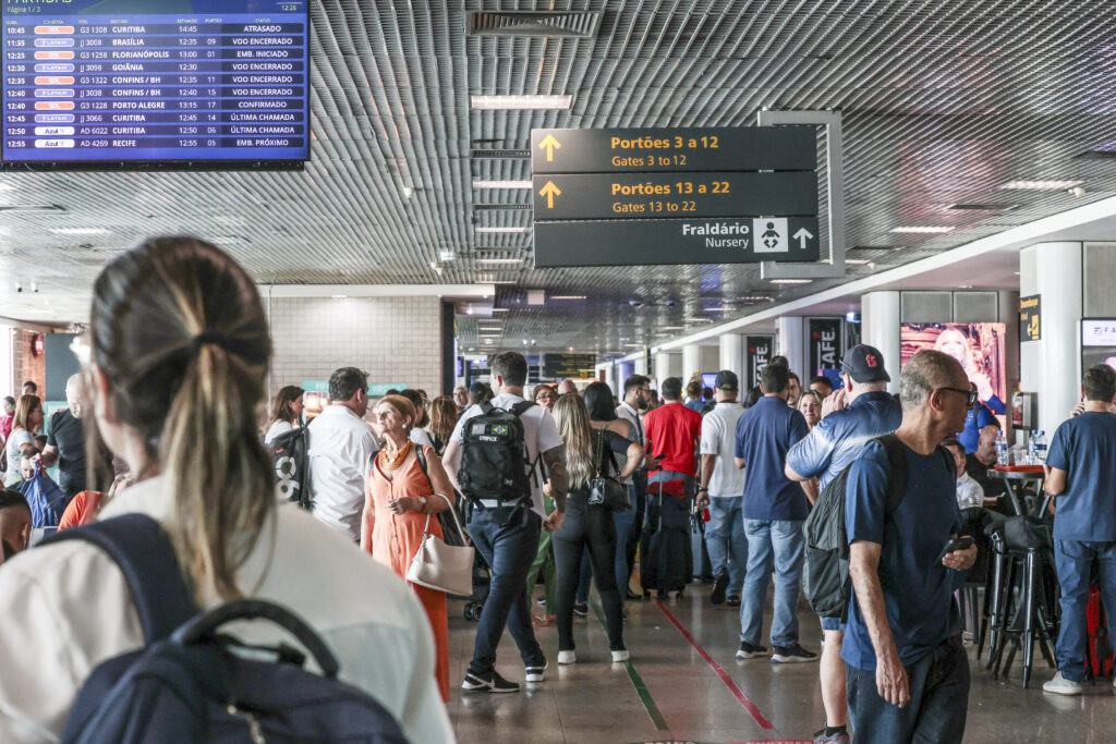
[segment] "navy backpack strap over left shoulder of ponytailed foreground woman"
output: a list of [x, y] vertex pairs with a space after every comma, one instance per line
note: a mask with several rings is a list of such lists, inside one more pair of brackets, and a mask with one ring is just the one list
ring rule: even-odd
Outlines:
[[179, 570], [171, 539], [158, 522], [146, 514], [124, 514], [92, 522], [58, 532], [40, 544], [67, 540], [96, 545], [119, 567], [147, 644], [170, 637], [175, 628], [200, 611]]

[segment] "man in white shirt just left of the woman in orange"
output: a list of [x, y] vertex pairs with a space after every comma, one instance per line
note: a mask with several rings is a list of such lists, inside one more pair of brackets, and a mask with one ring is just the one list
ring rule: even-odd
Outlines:
[[309, 423], [312, 513], [353, 542], [360, 541], [364, 472], [379, 450], [366, 413], [367, 373], [341, 367], [329, 377], [329, 406]]

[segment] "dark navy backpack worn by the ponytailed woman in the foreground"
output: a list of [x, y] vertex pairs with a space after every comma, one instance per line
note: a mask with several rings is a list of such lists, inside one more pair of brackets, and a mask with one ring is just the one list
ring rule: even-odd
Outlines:
[[[379, 703], [337, 679], [337, 659], [289, 610], [242, 599], [201, 612], [170, 539], [150, 516], [95, 522], [44, 543], [64, 540], [92, 542], [121, 567], [146, 646], [93, 670], [70, 709], [62, 742], [406, 742]], [[290, 631], [323, 675], [304, 670], [306, 655], [290, 646], [249, 647], [220, 632], [243, 620], [267, 620]], [[264, 656], [278, 660], [261, 660]]]

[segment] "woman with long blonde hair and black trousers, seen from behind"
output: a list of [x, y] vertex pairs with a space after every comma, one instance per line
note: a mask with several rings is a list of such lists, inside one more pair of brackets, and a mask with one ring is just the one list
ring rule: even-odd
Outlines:
[[[591, 387], [591, 385], [590, 385]], [[605, 609], [605, 626], [613, 661], [626, 661], [624, 603], [616, 586], [616, 525], [604, 506], [589, 505], [589, 482], [597, 473], [626, 479], [643, 461], [643, 447], [605, 425], [589, 424], [589, 410], [580, 396], [564, 395], [555, 404], [558, 433], [566, 443], [569, 494], [566, 518], [554, 533], [558, 586], [555, 592], [558, 622], [558, 664], [574, 664], [574, 597], [580, 574], [581, 552], [589, 551], [597, 591]], [[623, 423], [623, 422], [622, 422]], [[625, 424], [626, 427], [626, 424]], [[609, 452], [626, 457], [620, 472], [613, 471]]]

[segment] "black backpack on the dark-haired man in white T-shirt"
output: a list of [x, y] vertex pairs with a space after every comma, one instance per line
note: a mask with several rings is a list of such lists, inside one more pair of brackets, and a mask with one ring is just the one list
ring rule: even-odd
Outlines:
[[[511, 410], [479, 404], [481, 414], [462, 424], [461, 468], [458, 483], [473, 506], [484, 510], [481, 500], [496, 501], [507, 524], [520, 508], [531, 504], [531, 479], [537, 477], [538, 460], [527, 454], [523, 422], [520, 416], [535, 405], [521, 400]], [[530, 475], [528, 475], [530, 472]], [[504, 509], [511, 506], [511, 513]]]

